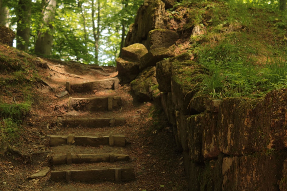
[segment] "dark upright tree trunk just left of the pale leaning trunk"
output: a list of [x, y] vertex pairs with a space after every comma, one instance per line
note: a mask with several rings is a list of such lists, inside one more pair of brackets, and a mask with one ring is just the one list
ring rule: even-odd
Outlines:
[[19, 50], [28, 50], [30, 40], [30, 17], [31, 17], [31, 0], [19, 0], [17, 7], [17, 33], [16, 48]]

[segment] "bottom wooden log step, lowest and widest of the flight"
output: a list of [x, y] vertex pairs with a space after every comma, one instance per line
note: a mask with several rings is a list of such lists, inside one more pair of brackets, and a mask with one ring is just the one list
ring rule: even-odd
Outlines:
[[51, 171], [52, 181], [100, 182], [130, 181], [135, 179], [133, 168]]

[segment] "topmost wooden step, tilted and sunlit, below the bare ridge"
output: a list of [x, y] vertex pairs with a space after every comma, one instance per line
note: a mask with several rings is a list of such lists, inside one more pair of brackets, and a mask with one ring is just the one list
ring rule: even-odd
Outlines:
[[108, 78], [104, 80], [97, 80], [93, 82], [85, 82], [85, 83], [77, 83], [77, 84], [71, 84], [70, 82], [66, 82], [66, 90], [69, 93], [73, 92], [92, 92], [94, 90], [96, 91], [102, 91], [107, 89], [117, 89], [119, 87], [119, 78]]

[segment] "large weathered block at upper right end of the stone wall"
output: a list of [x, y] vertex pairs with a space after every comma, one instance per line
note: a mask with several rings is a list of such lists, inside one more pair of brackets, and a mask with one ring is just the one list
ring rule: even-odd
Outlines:
[[217, 125], [220, 150], [243, 155], [264, 149], [284, 149], [286, 111], [286, 90], [274, 90], [265, 99], [253, 101], [224, 99]]

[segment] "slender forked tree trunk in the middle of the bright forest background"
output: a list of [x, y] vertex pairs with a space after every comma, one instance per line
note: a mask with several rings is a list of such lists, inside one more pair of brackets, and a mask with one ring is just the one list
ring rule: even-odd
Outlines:
[[99, 40], [100, 40], [100, 1], [97, 1], [97, 27], [95, 25], [95, 6], [94, 6], [94, 0], [92, 0], [92, 22], [93, 22], [93, 36], [94, 36], [94, 46], [95, 46], [95, 64], [98, 64], [99, 62]]

